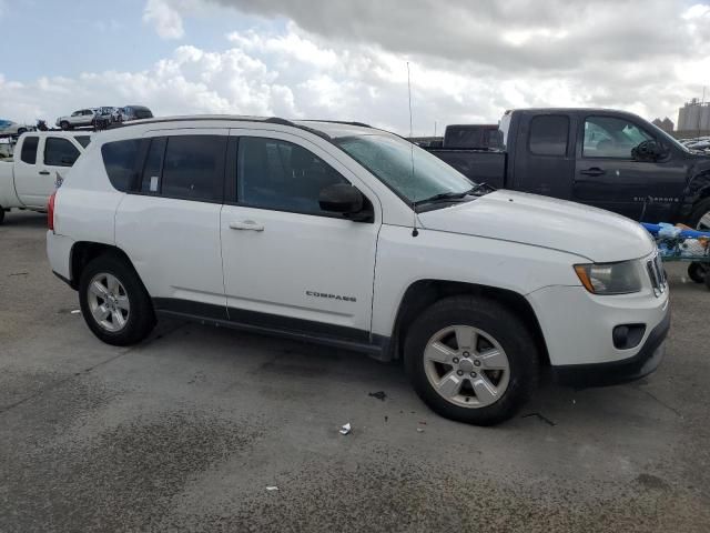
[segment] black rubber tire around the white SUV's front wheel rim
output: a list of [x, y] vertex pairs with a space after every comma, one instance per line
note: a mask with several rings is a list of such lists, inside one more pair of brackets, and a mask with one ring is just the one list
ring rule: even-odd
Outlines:
[[[509, 365], [508, 384], [494, 403], [459, 406], [439, 395], [429, 382], [424, 356], [427, 343], [435, 334], [453, 325], [485, 332], [505, 351]], [[514, 416], [532, 395], [539, 378], [539, 354], [530, 331], [516, 313], [487, 298], [452, 296], [434, 303], [408, 328], [404, 359], [415, 391], [433, 411], [447, 419], [476, 425], [493, 425]], [[470, 375], [475, 374], [471, 372]], [[467, 379], [465, 374], [464, 379]], [[469, 380], [469, 384], [473, 381]]]

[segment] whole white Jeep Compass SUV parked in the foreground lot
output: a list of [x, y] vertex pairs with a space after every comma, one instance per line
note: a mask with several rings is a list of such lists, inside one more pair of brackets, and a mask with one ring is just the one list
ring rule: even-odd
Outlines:
[[52, 270], [87, 324], [158, 315], [404, 358], [436, 412], [511, 416], [565, 382], [652, 372], [670, 325], [650, 235], [475, 184], [364, 124], [186, 117], [98, 135], [50, 201]]

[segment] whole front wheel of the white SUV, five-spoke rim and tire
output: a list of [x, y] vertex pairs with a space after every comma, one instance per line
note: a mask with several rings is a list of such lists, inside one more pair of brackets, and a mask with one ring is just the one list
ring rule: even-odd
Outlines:
[[499, 303], [453, 296], [408, 329], [405, 366], [417, 394], [443, 416], [477, 425], [511, 418], [537, 386], [536, 343]]

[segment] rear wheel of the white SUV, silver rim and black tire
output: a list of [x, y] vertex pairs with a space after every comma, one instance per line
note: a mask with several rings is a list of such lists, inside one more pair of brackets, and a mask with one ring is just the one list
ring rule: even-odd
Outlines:
[[112, 254], [94, 259], [83, 270], [79, 303], [89, 329], [108, 344], [135, 344], [155, 325], [150, 296], [138, 274]]

